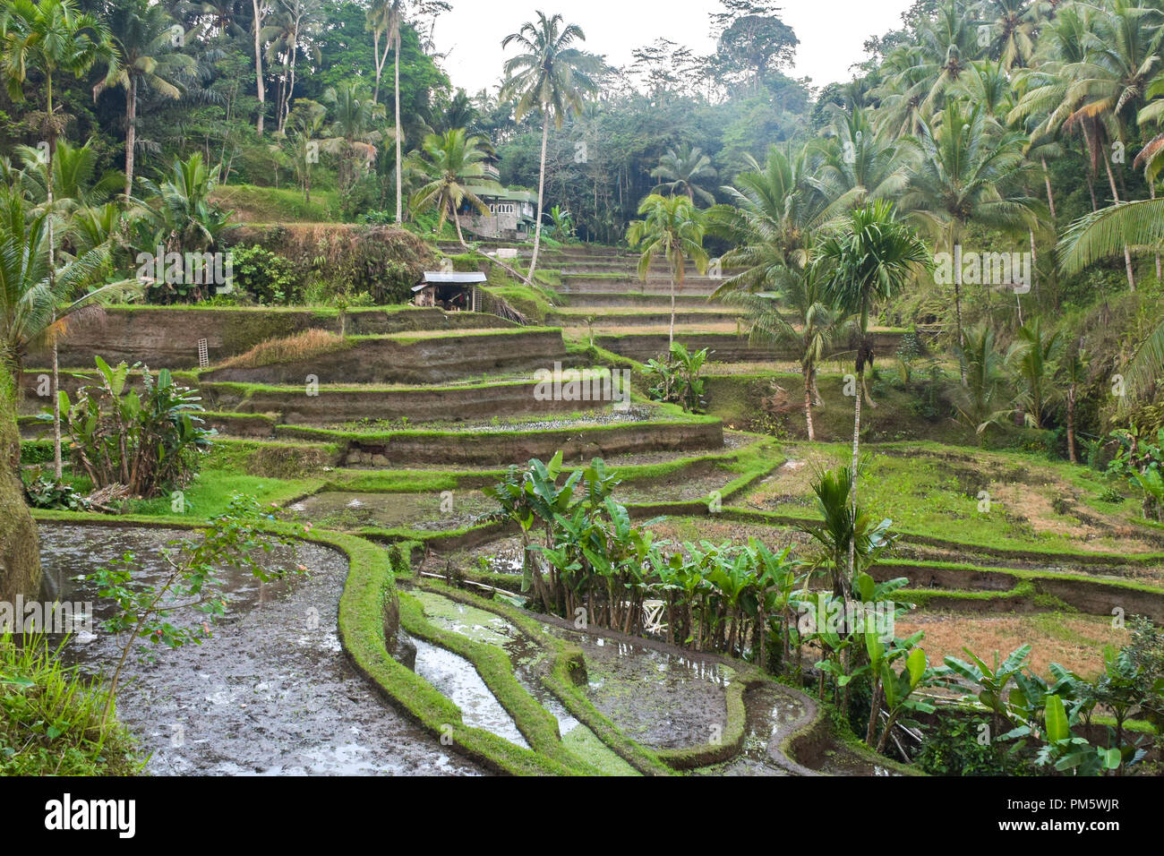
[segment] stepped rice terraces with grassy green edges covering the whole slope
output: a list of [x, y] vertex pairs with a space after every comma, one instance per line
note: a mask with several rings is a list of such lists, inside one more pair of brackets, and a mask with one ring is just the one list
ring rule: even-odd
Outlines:
[[[733, 585], [730, 561], [695, 589], [708, 597], [695, 606], [666, 576], [764, 549], [799, 563], [797, 590], [830, 590], [810, 530], [822, 521], [814, 483], [851, 454], [845, 363], [821, 368], [808, 443], [799, 363], [740, 335], [734, 310], [688, 291], [675, 333], [715, 352], [707, 412], [653, 402], [643, 362], [666, 345], [665, 284], [630, 288], [634, 259], [613, 250], [551, 253], [546, 263], [562, 288], [545, 326], [399, 307], [354, 311], [342, 326], [327, 311], [118, 309], [105, 333], [86, 327], [62, 352], [63, 388], [76, 396], [115, 333], [125, 353], [141, 348], [151, 368], [198, 389], [218, 433], [182, 510], [163, 496], [129, 500], [121, 516], [38, 511], [50, 567], [107, 561], [129, 542], [156, 552], [241, 493], [269, 510], [263, 525], [300, 539], [311, 568], [262, 590], [239, 581], [223, 639], [135, 672], [119, 709], [157, 749], [155, 771], [921, 772], [906, 763], [917, 752], [908, 731], [895, 730], [883, 754], [863, 747], [858, 714], [845, 720], [840, 694], [825, 688], [822, 642], [757, 632], [780, 610], [795, 625], [792, 601], [761, 615], [751, 595], [746, 607], [712, 595]], [[902, 331], [878, 334], [892, 352]], [[30, 468], [48, 454], [34, 417], [37, 365], [22, 377]], [[128, 385], [142, 389], [140, 373]], [[1091, 678], [1105, 648], [1128, 643], [1124, 618], [1164, 621], [1164, 526], [1143, 519], [1127, 486], [1045, 452], [979, 448], [947, 419], [918, 417], [917, 387], [888, 372], [871, 394], [859, 496], [896, 540], [867, 572], [882, 585], [904, 578], [894, 632], [924, 632], [931, 665], [967, 646], [992, 659], [1030, 644], [1032, 672], [1058, 664]], [[560, 469], [537, 482], [531, 459]], [[494, 494], [508, 479], [525, 486], [521, 514]], [[573, 494], [554, 505], [563, 484]], [[548, 580], [549, 563], [566, 563], [547, 521], [573, 525], [588, 501], [606, 509], [602, 526], [572, 536], [588, 566], [623, 544], [617, 561], [646, 581], [539, 595], [531, 567]], [[65, 590], [65, 578], [47, 585]], [[296, 624], [308, 608], [313, 635]], [[107, 655], [77, 649], [94, 667]], [[328, 706], [326, 693], [343, 698]], [[960, 694], [937, 692], [974, 715], [954, 705]], [[293, 715], [261, 721], [284, 703]], [[168, 750], [142, 714], [150, 705], [175, 717], [210, 705], [197, 738], [213, 752]]]

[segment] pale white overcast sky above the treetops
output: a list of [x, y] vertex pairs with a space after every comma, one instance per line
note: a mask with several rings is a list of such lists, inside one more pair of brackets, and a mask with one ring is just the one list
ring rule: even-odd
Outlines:
[[[631, 51], [663, 36], [697, 54], [714, 49], [708, 14], [717, 0], [452, 0], [435, 30], [436, 49], [448, 54], [445, 69], [454, 86], [470, 93], [501, 82], [505, 52], [501, 42], [533, 17], [535, 9], [561, 13], [585, 31], [583, 45], [626, 65]], [[800, 47], [793, 77], [811, 77], [814, 86], [847, 80], [849, 66], [865, 58], [863, 43], [901, 23], [910, 0], [785, 0], [781, 19], [796, 31]], [[510, 48], [510, 54], [517, 52]]]

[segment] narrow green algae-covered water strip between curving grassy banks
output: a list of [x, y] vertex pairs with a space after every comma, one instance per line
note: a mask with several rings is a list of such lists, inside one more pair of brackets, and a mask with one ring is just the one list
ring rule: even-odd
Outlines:
[[[475, 642], [501, 645], [513, 664], [518, 682], [558, 720], [558, 733], [562, 743], [574, 755], [613, 776], [634, 776], [634, 769], [604, 744], [598, 735], [579, 722], [558, 698], [546, 689], [541, 677], [549, 668], [545, 651], [527, 639], [499, 615], [460, 603], [433, 592], [411, 593], [425, 607], [425, 616], [433, 624], [468, 636]], [[471, 664], [464, 663], [471, 668]], [[430, 681], [432, 682], [432, 681]]]

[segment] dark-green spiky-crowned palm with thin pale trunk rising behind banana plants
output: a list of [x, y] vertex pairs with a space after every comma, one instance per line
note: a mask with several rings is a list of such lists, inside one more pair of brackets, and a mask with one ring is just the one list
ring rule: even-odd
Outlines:
[[[868, 335], [870, 313], [879, 300], [899, 291], [914, 273], [930, 263], [925, 245], [897, 220], [890, 203], [878, 199], [851, 212], [840, 234], [824, 241], [819, 263], [828, 269], [826, 293], [854, 316], [857, 334], [857, 385], [853, 390], [852, 505], [857, 518], [857, 473], [861, 429], [861, 394], [865, 367], [873, 363]], [[849, 575], [853, 576], [853, 542], [849, 543]]]

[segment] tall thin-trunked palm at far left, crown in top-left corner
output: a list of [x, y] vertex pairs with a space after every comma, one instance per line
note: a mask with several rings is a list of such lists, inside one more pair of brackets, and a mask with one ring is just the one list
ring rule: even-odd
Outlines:
[[[49, 291], [56, 290], [56, 236], [52, 213], [52, 158], [57, 137], [64, 128], [65, 116], [57, 115], [52, 101], [52, 82], [56, 75], [80, 77], [97, 64], [107, 66], [106, 78], [118, 72], [118, 51], [109, 38], [109, 30], [95, 16], [81, 13], [73, 0], [12, 0], [0, 9], [0, 73], [3, 75], [8, 97], [14, 102], [24, 100], [24, 84], [33, 69], [44, 77], [45, 111], [41, 129], [49, 144], [48, 182], [48, 278]], [[52, 460], [57, 481], [63, 473], [61, 458], [59, 367], [56, 339], [52, 340]]]

